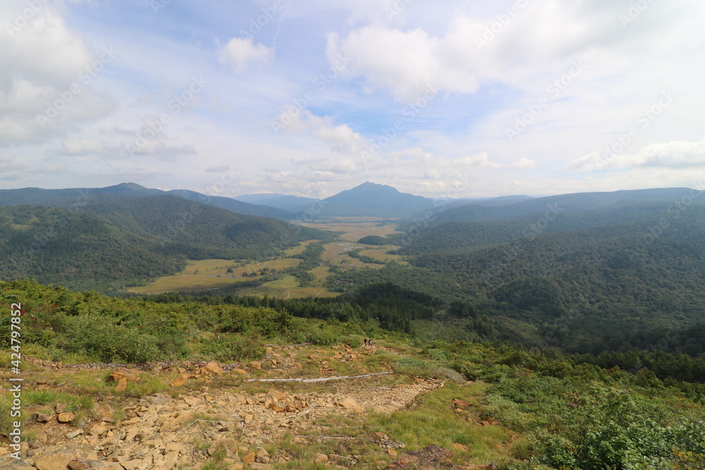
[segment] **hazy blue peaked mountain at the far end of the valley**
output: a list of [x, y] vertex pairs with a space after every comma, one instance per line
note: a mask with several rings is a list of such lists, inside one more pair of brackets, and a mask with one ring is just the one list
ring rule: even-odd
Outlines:
[[319, 216], [327, 217], [410, 217], [434, 207], [433, 199], [369, 182], [327, 197], [321, 204]]

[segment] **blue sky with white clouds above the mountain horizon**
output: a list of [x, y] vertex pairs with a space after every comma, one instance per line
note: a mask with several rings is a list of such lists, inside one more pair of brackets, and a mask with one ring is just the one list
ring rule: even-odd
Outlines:
[[0, 189], [705, 189], [702, 0], [0, 0]]

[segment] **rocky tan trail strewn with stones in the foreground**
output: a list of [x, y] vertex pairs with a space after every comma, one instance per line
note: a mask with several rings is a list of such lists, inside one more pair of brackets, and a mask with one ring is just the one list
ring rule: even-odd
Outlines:
[[[266, 365], [271, 368], [264, 375], [292, 378], [290, 374], [300, 367], [295, 347], [269, 347], [268, 351]], [[317, 361], [321, 376], [326, 377], [333, 375], [329, 374], [333, 370], [329, 368], [332, 361], [360, 361], [360, 356], [349, 347], [338, 347], [329, 357], [321, 356], [321, 359], [309, 355], [307, 359]], [[108, 373], [112, 369], [106, 381], [116, 382], [115, 390], [125, 390], [127, 383], [140, 381], [144, 374], [177, 372], [179, 375], [171, 382], [170, 393], [131, 400], [101, 397], [90, 419], [78, 423], [72, 413], [66, 413], [63, 404], [56, 404], [50, 413], [32, 414], [25, 428], [25, 432], [35, 435], [32, 444], [22, 444], [19, 460], [11, 457], [11, 449], [1, 447], [0, 469], [200, 469], [217, 452], [223, 457], [222, 465], [213, 468], [269, 469], [274, 464], [286, 464], [292, 457], [286, 449], [274, 454], [265, 449], [278, 443], [285, 434], [290, 435], [294, 443], [363, 439], [396, 455], [394, 449], [403, 448], [403, 443], [396, 443], [381, 433], [361, 436], [360, 431], [355, 430], [350, 433], [352, 436], [341, 435], [344, 433], [340, 428], [337, 433], [331, 433], [329, 426], [319, 424], [320, 418], [359, 416], [364, 419], [369, 409], [392, 413], [407, 407], [420, 393], [443, 387], [443, 382], [436, 380], [395, 383], [389, 376], [379, 374], [308, 384], [307, 392], [296, 392], [289, 383], [278, 382], [259, 382], [260, 388], [250, 388], [250, 391], [218, 385], [228, 376], [246, 380], [259, 371], [261, 377], [262, 361], [225, 367], [216, 362], [154, 363], [140, 367], [71, 366], [47, 361], [35, 361], [35, 364], [40, 370], [50, 371], [94, 369]], [[202, 386], [198, 390], [184, 388], [187, 382], [202, 383]], [[60, 388], [42, 380], [37, 380], [33, 386], [39, 390]], [[312, 387], [318, 389], [310, 391]], [[318, 462], [333, 468], [349, 468], [360, 458], [353, 454], [315, 456]]]

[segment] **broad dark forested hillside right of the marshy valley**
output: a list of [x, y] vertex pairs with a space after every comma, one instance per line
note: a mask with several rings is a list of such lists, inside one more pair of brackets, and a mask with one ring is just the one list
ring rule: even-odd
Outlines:
[[[411, 268], [338, 273], [330, 288], [393, 282], [470, 302], [489, 318], [537, 328], [527, 330], [537, 345], [566, 351], [705, 353], [695, 334], [705, 322], [701, 204], [619, 203], [544, 221], [444, 223], [410, 239], [397, 252], [410, 255]], [[462, 338], [452, 323], [427, 331]]]

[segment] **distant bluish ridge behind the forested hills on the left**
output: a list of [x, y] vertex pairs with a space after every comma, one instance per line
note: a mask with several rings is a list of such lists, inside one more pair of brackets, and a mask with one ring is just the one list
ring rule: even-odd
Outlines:
[[0, 206], [17, 206], [27, 204], [30, 206], [49, 206], [68, 209], [90, 205], [107, 204], [124, 199], [141, 199], [157, 194], [173, 194], [174, 196], [189, 201], [209, 204], [221, 209], [247, 214], [251, 216], [273, 217], [282, 220], [291, 220], [294, 215], [288, 211], [271, 206], [260, 206], [246, 202], [235, 201], [229, 197], [207, 196], [188, 190], [162, 191], [142, 187], [135, 183], [121, 183], [119, 185], [99, 188], [72, 188], [65, 190], [43, 190], [37, 187], [27, 187], [20, 190], [0, 190]]

